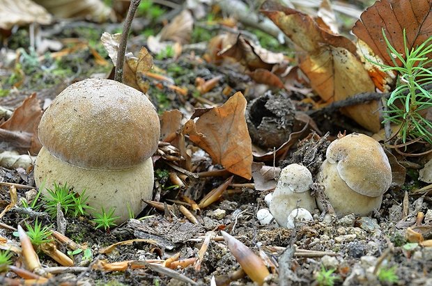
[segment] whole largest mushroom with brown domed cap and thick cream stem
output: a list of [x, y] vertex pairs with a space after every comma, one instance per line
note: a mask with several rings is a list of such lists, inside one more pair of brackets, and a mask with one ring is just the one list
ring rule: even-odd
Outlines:
[[160, 122], [144, 93], [109, 79], [85, 79], [63, 90], [38, 127], [43, 148], [36, 186], [54, 182], [85, 189], [90, 214], [115, 208], [116, 223], [139, 214], [153, 193], [153, 162]]

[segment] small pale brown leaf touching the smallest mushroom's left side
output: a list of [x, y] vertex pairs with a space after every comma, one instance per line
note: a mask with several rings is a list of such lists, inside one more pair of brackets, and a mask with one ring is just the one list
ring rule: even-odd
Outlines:
[[252, 164], [252, 177], [256, 191], [269, 191], [276, 188], [277, 180], [281, 173], [279, 167], [265, 166], [264, 163]]

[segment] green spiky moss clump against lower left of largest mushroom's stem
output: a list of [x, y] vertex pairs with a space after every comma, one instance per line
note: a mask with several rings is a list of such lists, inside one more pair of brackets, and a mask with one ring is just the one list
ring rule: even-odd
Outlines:
[[61, 186], [54, 182], [54, 190], [47, 189], [47, 192], [48, 195], [45, 196], [44, 200], [47, 213], [52, 217], [57, 215], [57, 204], [60, 204], [64, 214], [68, 214], [70, 211], [74, 216], [86, 215], [86, 209], [91, 208], [86, 205], [88, 200], [86, 190], [82, 191], [81, 195], [78, 195], [70, 191], [67, 183]]

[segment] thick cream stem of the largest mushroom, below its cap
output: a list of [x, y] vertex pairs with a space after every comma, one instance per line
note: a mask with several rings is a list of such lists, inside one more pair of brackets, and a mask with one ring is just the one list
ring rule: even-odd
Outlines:
[[143, 200], [151, 200], [153, 195], [151, 158], [127, 170], [100, 171], [72, 166], [42, 148], [36, 159], [34, 177], [36, 186], [44, 186], [42, 193], [45, 195], [47, 189], [54, 189], [54, 182], [67, 183], [75, 193], [85, 189], [88, 205], [94, 208], [87, 212], [94, 216], [102, 212], [101, 207], [106, 212], [114, 207], [114, 216], [120, 216], [117, 224], [129, 219], [128, 205], [138, 215], [145, 207]]

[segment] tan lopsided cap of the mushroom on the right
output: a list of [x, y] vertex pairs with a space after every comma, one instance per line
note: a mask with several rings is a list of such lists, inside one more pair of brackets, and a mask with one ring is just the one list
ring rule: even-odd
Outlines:
[[383, 195], [392, 183], [392, 168], [380, 143], [364, 134], [349, 134], [333, 141], [327, 161], [337, 165], [342, 180], [364, 196]]

